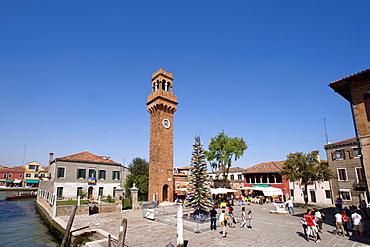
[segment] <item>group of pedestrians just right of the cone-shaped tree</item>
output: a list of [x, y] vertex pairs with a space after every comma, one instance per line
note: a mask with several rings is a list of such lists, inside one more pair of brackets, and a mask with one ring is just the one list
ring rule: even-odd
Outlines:
[[[226, 227], [229, 226], [231, 228], [234, 228], [237, 224], [237, 221], [235, 219], [235, 215], [234, 215], [234, 208], [229, 205], [227, 207], [227, 211], [228, 213], [226, 214], [226, 210], [223, 209], [221, 211], [221, 214], [219, 216], [219, 221], [220, 221], [220, 224], [222, 226], [222, 237], [226, 238], [227, 235], [226, 235]], [[211, 217], [211, 231], [212, 230], [216, 230], [216, 223], [217, 223], [217, 211], [215, 209], [215, 207], [213, 206], [211, 211], [210, 211], [210, 217]], [[243, 228], [243, 227], [248, 227], [249, 230], [253, 230], [253, 226], [252, 226], [252, 219], [253, 219], [253, 216], [252, 216], [252, 211], [251, 210], [248, 210], [248, 213], [246, 212], [245, 210], [245, 207], [242, 207], [242, 211], [241, 211], [241, 224], [240, 224], [240, 227]], [[248, 226], [247, 226], [247, 222], [248, 222]]]

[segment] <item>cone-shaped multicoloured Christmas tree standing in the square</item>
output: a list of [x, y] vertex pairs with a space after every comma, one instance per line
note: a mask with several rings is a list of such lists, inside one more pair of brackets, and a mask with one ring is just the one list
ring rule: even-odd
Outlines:
[[195, 212], [200, 213], [209, 209], [213, 200], [203, 145], [200, 142], [200, 137], [196, 136], [194, 139], [185, 206], [192, 207]]

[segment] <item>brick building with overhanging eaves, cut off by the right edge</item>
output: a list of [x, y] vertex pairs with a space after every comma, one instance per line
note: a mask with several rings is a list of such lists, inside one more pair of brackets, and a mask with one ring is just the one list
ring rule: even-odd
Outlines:
[[367, 201], [370, 188], [370, 69], [331, 82], [329, 86], [351, 106], [360, 162], [366, 181]]

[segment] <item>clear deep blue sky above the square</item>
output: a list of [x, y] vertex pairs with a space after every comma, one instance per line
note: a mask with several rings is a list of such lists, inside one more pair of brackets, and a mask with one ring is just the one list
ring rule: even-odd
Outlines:
[[149, 157], [151, 75], [172, 72], [174, 166], [222, 130], [233, 166], [326, 158], [354, 136], [328, 87], [368, 69], [369, 1], [0, 1], [0, 165], [89, 151]]

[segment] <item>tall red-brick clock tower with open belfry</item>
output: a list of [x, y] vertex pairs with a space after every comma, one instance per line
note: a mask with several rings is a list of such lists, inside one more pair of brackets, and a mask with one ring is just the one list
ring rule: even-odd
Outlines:
[[176, 95], [172, 73], [160, 68], [152, 75], [152, 93], [148, 96], [150, 114], [148, 200], [173, 202], [173, 114]]

